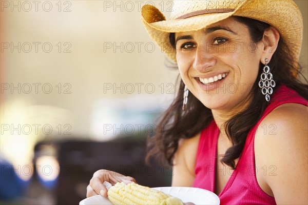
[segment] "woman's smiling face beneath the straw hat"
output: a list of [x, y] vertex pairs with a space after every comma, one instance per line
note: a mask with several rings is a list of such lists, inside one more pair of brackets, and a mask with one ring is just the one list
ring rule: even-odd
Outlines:
[[261, 43], [229, 17], [209, 27], [176, 33], [180, 75], [204, 106], [229, 111], [241, 107], [258, 75]]

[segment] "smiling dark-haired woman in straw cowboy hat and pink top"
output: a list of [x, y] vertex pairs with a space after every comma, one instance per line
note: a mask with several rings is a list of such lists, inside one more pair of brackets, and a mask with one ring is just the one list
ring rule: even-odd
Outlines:
[[[174, 166], [172, 186], [207, 189], [221, 204], [308, 203], [302, 18], [293, 1], [270, 2], [175, 1], [170, 20], [142, 8], [182, 79], [149, 141], [149, 156]], [[106, 196], [103, 181], [134, 179], [99, 170], [87, 196]]]

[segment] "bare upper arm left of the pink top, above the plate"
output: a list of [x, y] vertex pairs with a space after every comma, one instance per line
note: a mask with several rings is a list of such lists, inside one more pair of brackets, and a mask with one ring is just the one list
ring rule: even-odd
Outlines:
[[172, 187], [191, 187], [195, 179], [196, 154], [200, 133], [189, 139], [180, 139], [174, 158]]

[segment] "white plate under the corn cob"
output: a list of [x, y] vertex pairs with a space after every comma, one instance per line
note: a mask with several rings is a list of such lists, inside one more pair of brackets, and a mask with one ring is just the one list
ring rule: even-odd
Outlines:
[[[181, 199], [184, 203], [191, 202], [197, 204], [219, 204], [220, 200], [213, 192], [191, 187], [156, 187], [152, 188], [162, 191], [171, 196]], [[79, 203], [80, 205], [113, 205], [108, 198], [101, 195], [86, 198]]]

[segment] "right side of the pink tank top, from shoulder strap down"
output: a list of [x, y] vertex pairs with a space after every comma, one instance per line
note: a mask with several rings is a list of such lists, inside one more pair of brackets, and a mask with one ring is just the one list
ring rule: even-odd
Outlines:
[[[222, 204], [276, 204], [275, 198], [267, 195], [260, 188], [256, 178], [254, 140], [261, 121], [271, 111], [282, 104], [296, 103], [308, 106], [308, 101], [294, 90], [282, 85], [272, 96], [271, 103], [263, 112], [257, 124], [249, 131], [243, 151], [233, 175], [219, 197]], [[241, 193], [234, 197], [237, 193]], [[243, 194], [244, 193], [244, 194]]]

